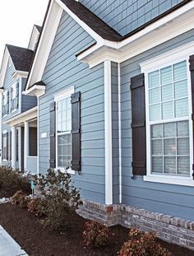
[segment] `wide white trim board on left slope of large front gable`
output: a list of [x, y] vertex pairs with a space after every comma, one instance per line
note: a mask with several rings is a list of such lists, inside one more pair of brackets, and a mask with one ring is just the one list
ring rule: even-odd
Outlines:
[[39, 40], [38, 49], [31, 67], [26, 90], [28, 90], [31, 85], [35, 84], [36, 81], [39, 81], [42, 78], [44, 67], [47, 63], [48, 55], [58, 30], [59, 21], [61, 20], [62, 11], [62, 7], [60, 7], [58, 3], [53, 0], [50, 4], [42, 35]]

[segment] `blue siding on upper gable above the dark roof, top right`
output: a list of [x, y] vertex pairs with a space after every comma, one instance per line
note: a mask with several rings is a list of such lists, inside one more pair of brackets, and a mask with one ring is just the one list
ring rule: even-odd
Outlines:
[[183, 0], [80, 0], [95, 15], [127, 35]]

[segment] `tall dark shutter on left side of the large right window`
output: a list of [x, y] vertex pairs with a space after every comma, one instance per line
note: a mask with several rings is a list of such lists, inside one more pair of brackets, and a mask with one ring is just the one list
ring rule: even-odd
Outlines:
[[146, 175], [146, 102], [144, 74], [131, 78], [132, 174]]

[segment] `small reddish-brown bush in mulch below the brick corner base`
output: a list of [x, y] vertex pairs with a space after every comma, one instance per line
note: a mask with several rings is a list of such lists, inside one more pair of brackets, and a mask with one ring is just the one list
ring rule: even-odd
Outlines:
[[85, 230], [83, 232], [83, 244], [93, 248], [99, 248], [108, 243], [110, 231], [108, 226], [100, 224], [96, 221], [85, 222]]

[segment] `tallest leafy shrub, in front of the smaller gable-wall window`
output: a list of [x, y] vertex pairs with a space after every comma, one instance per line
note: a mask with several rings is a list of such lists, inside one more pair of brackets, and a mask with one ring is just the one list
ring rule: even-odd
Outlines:
[[71, 175], [48, 169], [45, 176], [39, 177], [39, 190], [46, 202], [44, 226], [66, 229], [67, 214], [74, 213], [80, 203], [80, 193], [72, 184]]

